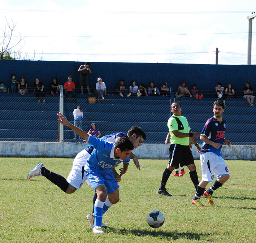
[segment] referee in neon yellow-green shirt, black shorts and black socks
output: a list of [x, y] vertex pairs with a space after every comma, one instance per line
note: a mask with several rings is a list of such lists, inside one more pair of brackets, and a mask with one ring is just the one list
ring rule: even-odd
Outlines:
[[190, 127], [188, 125], [187, 118], [181, 116], [182, 108], [179, 102], [173, 102], [171, 110], [173, 116], [169, 118], [167, 123], [171, 135], [171, 145], [169, 148], [169, 163], [162, 175], [160, 188], [156, 192], [157, 194], [165, 196], [172, 196], [166, 190], [165, 185], [173, 170], [175, 169], [175, 166], [178, 165], [179, 163], [186, 165], [187, 168], [189, 169], [191, 181], [193, 182], [196, 189], [199, 184], [194, 158], [190, 150], [191, 141], [192, 143], [195, 144], [196, 148], [198, 149], [198, 153], [201, 151], [200, 146], [194, 139], [199, 136], [199, 133], [190, 132]]

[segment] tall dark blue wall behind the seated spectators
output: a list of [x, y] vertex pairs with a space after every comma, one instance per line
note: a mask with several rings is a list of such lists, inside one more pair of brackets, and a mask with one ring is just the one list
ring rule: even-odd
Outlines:
[[[19, 81], [25, 76], [29, 87], [35, 78], [40, 78], [45, 87], [50, 87], [53, 77], [57, 77], [60, 84], [64, 84], [68, 76], [78, 88], [78, 68], [84, 62], [69, 61], [15, 61], [0, 60], [1, 80], [5, 86], [10, 86], [11, 74], [16, 74]], [[199, 90], [213, 90], [217, 82], [224, 87], [232, 83], [235, 91], [242, 91], [246, 81], [250, 81], [256, 89], [256, 66], [247, 65], [200, 65], [200, 64], [162, 64], [162, 63], [119, 63], [119, 62], [90, 62], [92, 74], [89, 74], [89, 84], [95, 88], [97, 78], [101, 77], [107, 84], [107, 89], [115, 88], [120, 79], [126, 85], [131, 81], [137, 84], [154, 81], [158, 87], [167, 82], [174, 91], [182, 81], [187, 82], [188, 88], [196, 83]]]

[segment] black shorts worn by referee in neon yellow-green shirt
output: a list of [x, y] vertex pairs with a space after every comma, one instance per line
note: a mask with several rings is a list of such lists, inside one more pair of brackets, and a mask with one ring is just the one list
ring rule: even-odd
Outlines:
[[191, 153], [189, 146], [184, 146], [181, 144], [171, 144], [169, 148], [169, 165], [176, 167], [178, 164], [191, 165], [194, 163], [194, 158]]

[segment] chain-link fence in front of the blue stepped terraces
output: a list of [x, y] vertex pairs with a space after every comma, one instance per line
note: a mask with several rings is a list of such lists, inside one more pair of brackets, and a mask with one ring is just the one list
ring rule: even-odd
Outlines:
[[[147, 134], [144, 143], [164, 144], [168, 133], [167, 121], [171, 115], [170, 97], [107, 97], [105, 100], [90, 101], [87, 96], [77, 97], [65, 97], [64, 114], [70, 122], [74, 122], [73, 110], [80, 105], [84, 131], [89, 131], [91, 123], [96, 123], [102, 136], [116, 131], [127, 133], [130, 127], [140, 126]], [[46, 97], [45, 103], [42, 101], [41, 98], [38, 103], [34, 96], [0, 96], [0, 141], [58, 142], [60, 96]], [[205, 122], [213, 116], [214, 99], [180, 98], [179, 102], [191, 131], [200, 134]], [[256, 134], [252, 127], [256, 123], [256, 107], [248, 107], [245, 99], [226, 99], [223, 118], [227, 122], [225, 138], [231, 140], [233, 145], [255, 145]], [[73, 138], [74, 132], [64, 127], [64, 142], [83, 142]], [[196, 140], [201, 143], [199, 138]]]

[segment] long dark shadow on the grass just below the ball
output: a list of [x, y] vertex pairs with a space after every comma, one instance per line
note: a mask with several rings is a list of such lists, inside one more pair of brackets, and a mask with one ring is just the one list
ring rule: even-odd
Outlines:
[[177, 239], [194, 239], [194, 240], [200, 240], [202, 237], [209, 237], [212, 236], [213, 233], [178, 233], [178, 232], [166, 232], [166, 231], [151, 231], [151, 230], [135, 230], [135, 229], [112, 229], [116, 234], [121, 234], [121, 235], [129, 235], [133, 234], [135, 236], [151, 236], [151, 237], [161, 237], [161, 238], [172, 238], [177, 240]]

